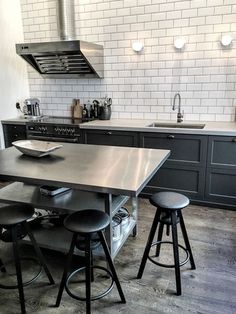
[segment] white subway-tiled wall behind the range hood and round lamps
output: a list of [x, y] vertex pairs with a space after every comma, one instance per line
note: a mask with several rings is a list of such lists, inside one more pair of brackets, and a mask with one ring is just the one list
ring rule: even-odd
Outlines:
[[[56, 0], [21, 0], [25, 40], [57, 40]], [[236, 105], [235, 0], [75, 0], [77, 38], [104, 45], [105, 78], [42, 79], [28, 67], [30, 96], [44, 113], [70, 115], [73, 98], [113, 98], [113, 117], [232, 121]], [[222, 49], [219, 39], [234, 42]], [[175, 51], [176, 37], [186, 39]], [[131, 49], [144, 42], [141, 54]]]

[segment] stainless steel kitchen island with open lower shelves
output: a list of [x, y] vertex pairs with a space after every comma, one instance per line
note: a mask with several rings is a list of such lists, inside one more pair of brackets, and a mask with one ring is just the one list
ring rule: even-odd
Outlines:
[[[169, 155], [169, 150], [63, 143], [54, 153], [36, 158], [10, 147], [0, 151], [0, 178], [18, 182], [1, 189], [0, 200], [68, 212], [97, 207], [105, 210], [112, 222], [116, 211], [131, 197], [132, 219], [119, 243], [112, 239], [112, 223], [106, 230], [114, 258], [129, 234], [137, 232], [137, 196]], [[39, 193], [39, 186], [45, 184], [73, 190], [59, 198], [45, 199]], [[60, 243], [64, 237], [60, 239], [60, 234], [58, 237]], [[50, 238], [41, 239], [38, 239], [41, 246], [55, 248]], [[44, 240], [47, 241], [42, 243]], [[66, 245], [61, 249], [66, 250]]]

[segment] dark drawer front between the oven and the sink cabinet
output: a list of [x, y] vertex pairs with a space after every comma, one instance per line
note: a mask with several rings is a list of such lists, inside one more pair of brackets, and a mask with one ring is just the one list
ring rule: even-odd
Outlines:
[[138, 135], [136, 132], [119, 131], [85, 131], [85, 144], [110, 145], [110, 146], [138, 146]]

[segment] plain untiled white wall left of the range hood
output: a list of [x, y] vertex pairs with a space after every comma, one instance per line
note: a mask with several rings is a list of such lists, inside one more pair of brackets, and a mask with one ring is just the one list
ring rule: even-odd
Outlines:
[[[26, 65], [15, 52], [22, 41], [20, 0], [0, 0], [0, 120], [16, 117], [16, 102], [29, 95]], [[2, 130], [0, 139], [3, 148]]]

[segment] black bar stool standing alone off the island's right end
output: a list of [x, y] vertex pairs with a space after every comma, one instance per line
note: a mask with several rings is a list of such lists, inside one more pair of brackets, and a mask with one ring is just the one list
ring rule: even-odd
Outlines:
[[[139, 267], [137, 278], [142, 278], [143, 271], [149, 259], [152, 263], [166, 267], [166, 268], [175, 268], [175, 279], [176, 279], [176, 289], [177, 295], [181, 295], [181, 277], [180, 277], [180, 266], [185, 265], [189, 260], [191, 264], [191, 269], [196, 269], [193, 254], [191, 250], [191, 246], [189, 243], [187, 231], [184, 224], [184, 219], [182, 216], [181, 209], [189, 205], [189, 199], [179, 193], [175, 192], [159, 192], [154, 194], [150, 198], [150, 203], [155, 206], [156, 214], [152, 223], [152, 227], [149, 233], [149, 237], [147, 240], [147, 244], [143, 253], [143, 258], [141, 261], [141, 265]], [[157, 226], [159, 223], [159, 230], [157, 235], [157, 241], [153, 242]], [[178, 244], [178, 235], [177, 235], [177, 224], [180, 224], [182, 235], [185, 242], [185, 247]], [[167, 227], [167, 235], [169, 235], [170, 227], [172, 229], [172, 241], [162, 241], [163, 228], [166, 225]], [[174, 264], [163, 264], [160, 263], [151, 256], [149, 256], [149, 252], [151, 247], [156, 246], [156, 254], [158, 257], [160, 254], [161, 244], [169, 243], [173, 245], [173, 253], [174, 253]], [[186, 252], [186, 259], [182, 262], [179, 261], [179, 248], [183, 249]]]

